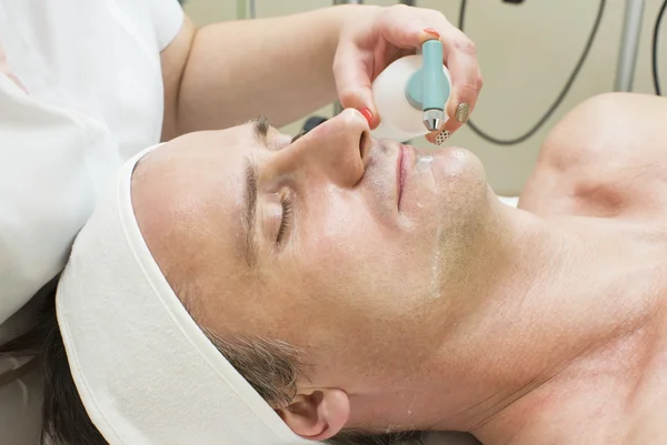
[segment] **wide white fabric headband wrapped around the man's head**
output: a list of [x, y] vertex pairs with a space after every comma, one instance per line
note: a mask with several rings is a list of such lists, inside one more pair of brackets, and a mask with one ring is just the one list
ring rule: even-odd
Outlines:
[[127, 162], [74, 242], [57, 293], [79, 395], [111, 445], [305, 445], [206, 337], [132, 210]]

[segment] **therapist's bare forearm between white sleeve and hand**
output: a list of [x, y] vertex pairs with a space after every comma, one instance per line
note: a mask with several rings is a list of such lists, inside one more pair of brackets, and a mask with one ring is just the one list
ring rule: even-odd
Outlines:
[[177, 132], [227, 128], [258, 114], [282, 125], [335, 101], [331, 65], [351, 13], [334, 7], [198, 30], [178, 92]]

